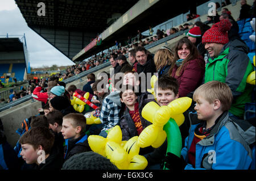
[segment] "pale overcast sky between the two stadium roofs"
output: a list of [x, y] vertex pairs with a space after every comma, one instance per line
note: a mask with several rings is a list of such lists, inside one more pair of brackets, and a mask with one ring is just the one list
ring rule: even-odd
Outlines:
[[[32, 68], [56, 64], [74, 65], [63, 53], [54, 48], [46, 40], [27, 26], [14, 0], [0, 0], [0, 38], [2, 35], [24, 35], [26, 37], [30, 66]], [[22, 36], [19, 36], [22, 37]], [[78, 53], [78, 52], [77, 52]]]

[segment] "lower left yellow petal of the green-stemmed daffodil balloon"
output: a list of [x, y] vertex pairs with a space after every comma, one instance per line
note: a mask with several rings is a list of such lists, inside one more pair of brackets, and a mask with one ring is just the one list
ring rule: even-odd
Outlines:
[[154, 124], [147, 126], [138, 137], [138, 146], [141, 148], [146, 148], [147, 146], [152, 145], [158, 137], [159, 127], [155, 127]]

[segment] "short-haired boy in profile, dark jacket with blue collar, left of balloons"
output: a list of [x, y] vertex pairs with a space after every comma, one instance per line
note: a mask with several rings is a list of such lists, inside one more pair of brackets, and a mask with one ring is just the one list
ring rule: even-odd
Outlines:
[[63, 117], [61, 133], [65, 139], [64, 161], [72, 155], [91, 151], [84, 133], [86, 118], [81, 113], [69, 113]]

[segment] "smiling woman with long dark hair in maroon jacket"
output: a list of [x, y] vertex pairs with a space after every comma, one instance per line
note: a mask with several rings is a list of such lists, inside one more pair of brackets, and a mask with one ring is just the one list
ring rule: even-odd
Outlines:
[[179, 83], [179, 97], [187, 96], [201, 84], [205, 72], [205, 61], [187, 37], [180, 39], [174, 49], [174, 61], [170, 75]]

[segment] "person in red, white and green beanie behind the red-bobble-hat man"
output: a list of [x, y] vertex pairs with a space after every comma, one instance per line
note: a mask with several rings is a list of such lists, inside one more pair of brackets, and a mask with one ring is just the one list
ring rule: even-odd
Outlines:
[[188, 39], [196, 46], [197, 50], [199, 50], [199, 53], [202, 57], [205, 56], [205, 53], [207, 53], [207, 50], [204, 48], [204, 44], [202, 43], [202, 34], [200, 27], [193, 27], [188, 31]]

